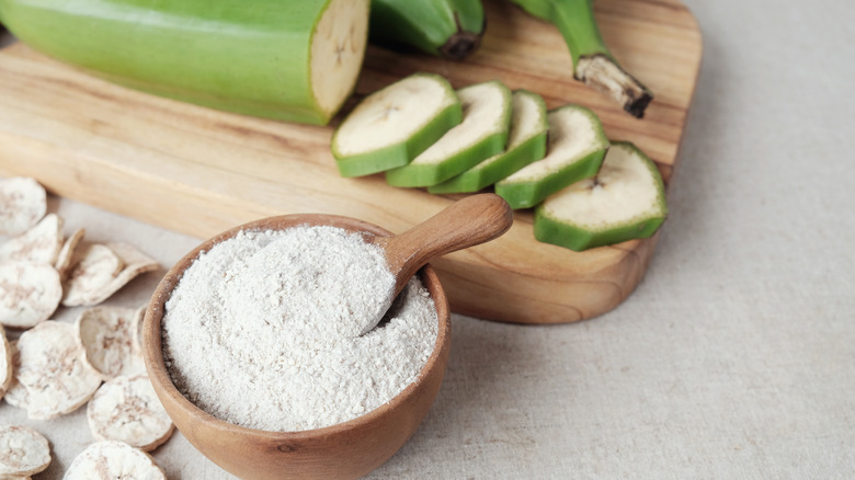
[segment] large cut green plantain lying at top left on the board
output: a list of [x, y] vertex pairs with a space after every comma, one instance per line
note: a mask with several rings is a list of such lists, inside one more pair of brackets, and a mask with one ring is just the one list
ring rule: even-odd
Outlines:
[[18, 38], [106, 80], [321, 125], [355, 87], [368, 12], [369, 0], [0, 0]]

